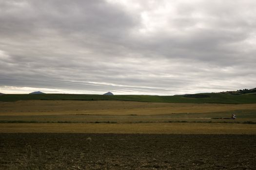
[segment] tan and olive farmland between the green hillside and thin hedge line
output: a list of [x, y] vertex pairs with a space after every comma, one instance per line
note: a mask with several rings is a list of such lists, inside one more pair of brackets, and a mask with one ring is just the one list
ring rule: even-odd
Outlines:
[[[237, 119], [211, 119], [231, 117]], [[256, 103], [160, 103], [128, 101], [0, 102], [0, 122], [147, 123], [256, 122]]]

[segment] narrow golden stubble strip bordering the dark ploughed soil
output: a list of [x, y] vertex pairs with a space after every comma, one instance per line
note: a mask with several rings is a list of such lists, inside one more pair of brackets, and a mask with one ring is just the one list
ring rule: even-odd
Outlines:
[[256, 134], [256, 125], [233, 123], [0, 123], [0, 133]]

